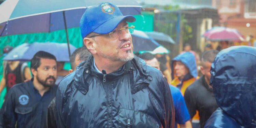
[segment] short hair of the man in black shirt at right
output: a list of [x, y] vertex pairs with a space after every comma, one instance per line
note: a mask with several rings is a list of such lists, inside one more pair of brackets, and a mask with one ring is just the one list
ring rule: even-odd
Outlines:
[[209, 50], [202, 53], [201, 65], [203, 66], [203, 62], [212, 63], [215, 56], [218, 54], [218, 50]]

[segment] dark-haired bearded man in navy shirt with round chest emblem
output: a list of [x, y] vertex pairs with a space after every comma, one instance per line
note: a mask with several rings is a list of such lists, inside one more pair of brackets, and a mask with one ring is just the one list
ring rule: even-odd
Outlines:
[[4, 128], [44, 128], [47, 106], [56, 95], [57, 62], [40, 51], [31, 59], [33, 78], [13, 86], [1, 109]]

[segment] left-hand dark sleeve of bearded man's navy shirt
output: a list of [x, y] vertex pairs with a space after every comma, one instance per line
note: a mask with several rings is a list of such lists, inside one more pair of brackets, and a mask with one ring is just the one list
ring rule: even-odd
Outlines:
[[15, 128], [17, 116], [15, 114], [15, 87], [11, 88], [5, 97], [1, 108], [1, 125], [3, 128]]

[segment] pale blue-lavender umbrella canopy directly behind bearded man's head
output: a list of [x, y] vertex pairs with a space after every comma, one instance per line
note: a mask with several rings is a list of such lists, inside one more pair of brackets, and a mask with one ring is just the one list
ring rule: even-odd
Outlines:
[[[73, 53], [76, 47], [70, 45], [70, 51]], [[44, 51], [53, 54], [57, 61], [69, 61], [68, 47], [66, 43], [24, 43], [12, 49], [3, 60], [21, 60], [21, 61], [29, 61], [33, 58], [34, 54]]]

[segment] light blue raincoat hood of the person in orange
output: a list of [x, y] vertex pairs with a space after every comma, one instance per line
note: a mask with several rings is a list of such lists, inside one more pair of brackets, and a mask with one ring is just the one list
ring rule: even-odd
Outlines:
[[175, 58], [172, 59], [171, 65], [172, 65], [172, 79], [174, 79], [174, 61], [181, 61], [188, 69], [190, 75], [192, 75], [194, 78], [197, 77], [197, 66], [196, 66], [196, 60], [195, 56], [190, 52], [182, 53]]

